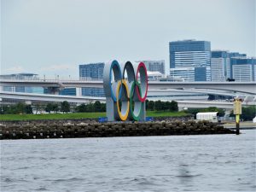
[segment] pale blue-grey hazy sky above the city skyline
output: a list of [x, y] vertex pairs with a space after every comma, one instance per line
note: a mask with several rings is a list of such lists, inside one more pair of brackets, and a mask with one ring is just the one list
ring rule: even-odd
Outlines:
[[255, 56], [255, 0], [1, 0], [1, 74], [78, 79], [86, 63], [165, 60], [169, 42]]

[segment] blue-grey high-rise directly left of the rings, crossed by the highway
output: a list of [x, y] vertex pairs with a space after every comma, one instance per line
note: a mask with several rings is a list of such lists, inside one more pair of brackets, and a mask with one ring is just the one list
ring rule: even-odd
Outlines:
[[[103, 79], [103, 62], [79, 65], [80, 80], [102, 80]], [[105, 96], [102, 88], [86, 87], [82, 88], [82, 96]]]

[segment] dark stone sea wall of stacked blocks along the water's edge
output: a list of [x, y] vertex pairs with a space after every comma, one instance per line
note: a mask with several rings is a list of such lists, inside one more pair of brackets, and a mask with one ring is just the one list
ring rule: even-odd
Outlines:
[[[20, 123], [19, 123], [20, 122]], [[1, 122], [0, 139], [32, 138], [73, 138], [73, 137], [136, 137], [136, 136], [170, 136], [199, 134], [235, 134], [235, 131], [224, 129], [223, 125], [208, 121], [163, 120], [154, 122], [107, 122], [95, 120], [58, 121], [18, 121]]]

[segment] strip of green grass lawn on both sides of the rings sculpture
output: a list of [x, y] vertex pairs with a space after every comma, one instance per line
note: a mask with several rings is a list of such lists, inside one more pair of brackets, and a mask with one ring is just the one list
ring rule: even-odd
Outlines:
[[[156, 112], [148, 111], [147, 116], [151, 117], [180, 117], [186, 116], [184, 112]], [[105, 112], [100, 113], [50, 113], [50, 114], [0, 114], [1, 120], [32, 120], [32, 119], [84, 119], [105, 117]]]

